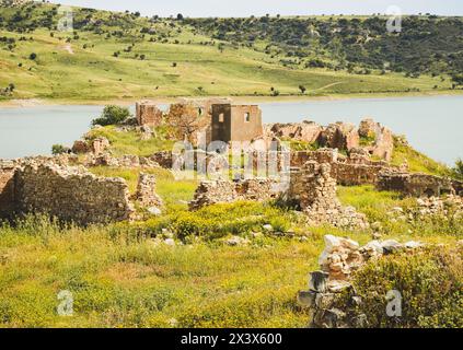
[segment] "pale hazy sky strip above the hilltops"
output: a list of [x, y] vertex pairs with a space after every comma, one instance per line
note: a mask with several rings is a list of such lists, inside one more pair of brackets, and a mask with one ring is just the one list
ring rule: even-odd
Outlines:
[[463, 15], [463, 0], [53, 0], [86, 8], [140, 11], [169, 16], [250, 16], [269, 14], [371, 14], [397, 5], [404, 14]]

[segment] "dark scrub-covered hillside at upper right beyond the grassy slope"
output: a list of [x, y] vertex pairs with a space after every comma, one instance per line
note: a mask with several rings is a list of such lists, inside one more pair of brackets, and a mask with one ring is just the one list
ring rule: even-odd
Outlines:
[[283, 66], [371, 74], [379, 70], [452, 74], [463, 68], [460, 18], [405, 16], [403, 32], [386, 31], [386, 16], [187, 19], [199, 33], [234, 46], [253, 47]]

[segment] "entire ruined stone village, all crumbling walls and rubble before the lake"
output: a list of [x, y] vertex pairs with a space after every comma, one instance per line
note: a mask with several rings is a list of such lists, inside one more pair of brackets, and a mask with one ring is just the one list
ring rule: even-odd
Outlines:
[[[343, 206], [337, 186], [371, 185], [378, 191], [395, 191], [416, 200], [413, 210], [394, 208], [389, 213], [391, 221], [448, 215], [450, 207], [454, 215], [463, 212], [463, 183], [413, 173], [406, 162], [392, 165], [395, 136], [372, 118], [359, 126], [343, 121], [328, 126], [312, 121], [263, 125], [257, 105], [235, 105], [228, 98], [181, 100], [166, 112], [143, 101], [137, 103], [131, 120], [117, 126], [117, 132], [136, 131], [140, 140], [147, 140], [155, 138], [158, 129], [172, 125], [170, 137], [188, 145], [182, 152], [116, 156], [108, 139], [89, 133], [59, 155], [2, 161], [0, 215], [12, 219], [45, 213], [82, 226], [162, 217], [164, 205], [157, 191], [157, 177], [148, 171], [181, 171], [189, 164], [195, 174], [204, 175], [187, 203], [193, 212], [218, 203], [278, 201], [290, 205], [309, 226], [347, 230], [354, 237], [357, 231], [372, 233], [366, 246], [327, 235], [320, 270], [311, 273], [309, 291], [297, 296], [299, 305], [310, 310], [312, 327], [332, 328], [368, 325], [366, 315], [355, 307], [361, 298], [350, 284], [352, 272], [383, 255], [424, 247], [419, 242], [381, 240], [381, 224], [369, 221], [354, 207]], [[290, 141], [316, 144], [316, 149], [291, 150]], [[239, 166], [229, 162], [233, 142], [244, 144], [239, 156], [241, 160], [244, 154], [245, 161]], [[270, 159], [276, 164], [271, 173]], [[263, 160], [264, 171], [255, 168], [258, 160]], [[89, 171], [96, 166], [140, 168], [136, 191], [130, 192], [123, 178], [96, 176]], [[291, 233], [275, 232], [270, 224], [263, 225], [263, 232], [291, 237]], [[162, 240], [162, 244], [176, 244], [175, 232]], [[241, 246], [250, 241], [235, 235], [224, 243]], [[344, 299], [345, 292], [349, 302]]]

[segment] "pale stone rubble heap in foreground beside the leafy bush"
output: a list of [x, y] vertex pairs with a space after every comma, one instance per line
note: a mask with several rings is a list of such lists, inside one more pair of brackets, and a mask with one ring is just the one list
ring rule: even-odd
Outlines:
[[[350, 283], [355, 271], [361, 269], [369, 260], [381, 258], [403, 249], [418, 249], [424, 245], [418, 242], [401, 244], [397, 241], [372, 241], [364, 246], [348, 238], [325, 236], [325, 250], [319, 264], [320, 271], [310, 273], [309, 290], [298, 293], [301, 306], [311, 311], [313, 328], [352, 328], [367, 326], [366, 316], [358, 314], [356, 305], [361, 298], [355, 294]], [[348, 304], [339, 302], [342, 293], [349, 292]]]

